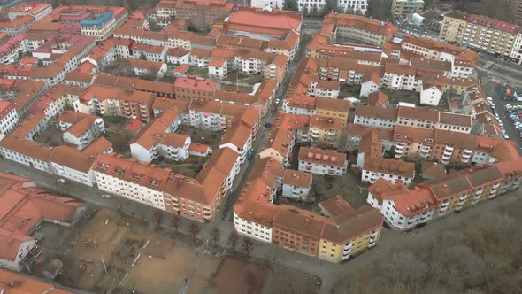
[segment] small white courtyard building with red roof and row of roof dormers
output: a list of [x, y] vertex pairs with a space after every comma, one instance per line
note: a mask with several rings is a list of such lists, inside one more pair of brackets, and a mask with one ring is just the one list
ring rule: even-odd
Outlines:
[[311, 174], [345, 174], [348, 167], [346, 154], [339, 151], [301, 147], [299, 149], [299, 170]]

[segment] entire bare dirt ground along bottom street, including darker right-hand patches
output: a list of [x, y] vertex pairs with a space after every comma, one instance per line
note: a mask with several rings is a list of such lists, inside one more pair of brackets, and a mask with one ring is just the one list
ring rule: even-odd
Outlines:
[[[185, 292], [190, 294], [319, 289], [319, 280], [304, 272], [276, 267], [270, 274], [261, 262], [206, 255], [181, 236], [172, 241], [170, 231], [149, 227], [146, 221], [102, 209], [73, 228], [45, 224], [38, 232], [44, 235], [40, 245], [45, 259], [64, 263], [55, 282], [95, 293], [178, 293], [187, 287], [185, 279]], [[41, 267], [45, 265], [44, 261]], [[42, 276], [42, 268], [35, 275]]]

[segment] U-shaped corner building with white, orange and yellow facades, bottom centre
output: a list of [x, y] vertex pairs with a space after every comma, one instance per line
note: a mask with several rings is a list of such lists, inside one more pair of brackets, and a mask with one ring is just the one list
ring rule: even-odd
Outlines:
[[292, 175], [295, 171], [281, 167], [271, 157], [257, 160], [234, 205], [234, 228], [239, 234], [330, 262], [349, 259], [376, 244], [382, 216], [372, 207], [355, 210], [335, 197], [319, 204], [323, 216], [289, 205], [274, 205], [281, 176], [289, 174], [296, 180]]

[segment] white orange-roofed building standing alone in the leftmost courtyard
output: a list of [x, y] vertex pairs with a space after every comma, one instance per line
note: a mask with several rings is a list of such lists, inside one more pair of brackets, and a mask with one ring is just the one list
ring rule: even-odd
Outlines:
[[64, 142], [84, 149], [105, 133], [104, 120], [95, 115], [65, 111], [58, 117], [58, 128], [63, 132]]

